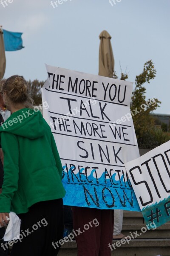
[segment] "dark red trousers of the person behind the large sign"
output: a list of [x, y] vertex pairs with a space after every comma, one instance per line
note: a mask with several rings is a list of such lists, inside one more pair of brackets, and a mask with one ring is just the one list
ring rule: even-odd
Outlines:
[[113, 213], [113, 210], [73, 207], [74, 230], [79, 233], [77, 256], [111, 256], [108, 244], [113, 240]]

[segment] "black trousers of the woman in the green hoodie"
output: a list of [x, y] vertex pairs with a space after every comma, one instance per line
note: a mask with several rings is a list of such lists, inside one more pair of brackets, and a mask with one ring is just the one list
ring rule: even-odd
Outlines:
[[14, 243], [11, 256], [57, 256], [60, 246], [54, 248], [52, 242], [63, 235], [62, 199], [39, 202], [18, 216], [20, 240]]

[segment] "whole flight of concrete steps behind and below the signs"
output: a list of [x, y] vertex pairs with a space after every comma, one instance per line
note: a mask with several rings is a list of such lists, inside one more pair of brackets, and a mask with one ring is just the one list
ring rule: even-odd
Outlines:
[[[113, 240], [111, 255], [170, 256], [170, 221], [155, 230], [146, 231], [145, 227], [141, 212], [124, 211], [122, 233], [129, 237], [124, 244], [120, 240]], [[77, 256], [76, 241], [62, 245], [58, 256]]]

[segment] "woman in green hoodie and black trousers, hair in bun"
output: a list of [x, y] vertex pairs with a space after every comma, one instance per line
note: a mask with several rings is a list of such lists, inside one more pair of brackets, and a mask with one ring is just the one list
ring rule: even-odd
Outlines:
[[11, 116], [0, 127], [4, 153], [0, 224], [13, 211], [21, 219], [20, 234], [30, 232], [14, 243], [11, 256], [56, 256], [59, 247], [55, 250], [52, 242], [62, 239], [65, 196], [57, 146], [40, 111], [31, 109], [23, 76], [8, 78], [2, 93]]

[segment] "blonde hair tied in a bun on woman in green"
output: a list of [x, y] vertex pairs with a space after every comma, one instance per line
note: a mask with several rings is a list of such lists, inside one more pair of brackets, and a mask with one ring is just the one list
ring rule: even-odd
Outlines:
[[23, 76], [10, 76], [2, 85], [1, 93], [6, 91], [6, 104], [24, 104], [32, 108], [34, 103], [28, 90], [28, 83]]

